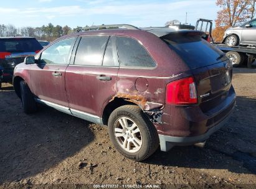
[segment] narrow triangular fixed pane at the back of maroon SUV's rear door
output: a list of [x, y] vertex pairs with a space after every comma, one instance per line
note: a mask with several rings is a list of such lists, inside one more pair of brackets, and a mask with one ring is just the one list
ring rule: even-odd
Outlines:
[[111, 36], [108, 40], [108, 45], [105, 50], [103, 58], [103, 66], [105, 67], [118, 67], [119, 62], [117, 59], [115, 37]]

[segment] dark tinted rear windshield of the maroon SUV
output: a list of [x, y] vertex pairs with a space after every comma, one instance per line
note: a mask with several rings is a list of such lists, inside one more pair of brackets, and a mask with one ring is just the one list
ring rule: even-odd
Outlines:
[[161, 39], [183, 58], [191, 70], [227, 60], [222, 51], [193, 32], [164, 35]]

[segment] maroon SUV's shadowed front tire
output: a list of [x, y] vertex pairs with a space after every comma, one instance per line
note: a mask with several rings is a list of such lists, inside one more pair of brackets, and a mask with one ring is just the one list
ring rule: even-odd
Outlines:
[[21, 89], [21, 102], [24, 113], [35, 113], [37, 111], [37, 104], [34, 98], [34, 94], [31, 92], [25, 81], [21, 81], [19, 85]]

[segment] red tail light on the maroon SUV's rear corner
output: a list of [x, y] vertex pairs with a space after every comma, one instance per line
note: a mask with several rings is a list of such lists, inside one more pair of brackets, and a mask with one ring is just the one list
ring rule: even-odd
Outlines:
[[168, 83], [166, 86], [167, 104], [196, 104], [196, 83], [192, 76]]

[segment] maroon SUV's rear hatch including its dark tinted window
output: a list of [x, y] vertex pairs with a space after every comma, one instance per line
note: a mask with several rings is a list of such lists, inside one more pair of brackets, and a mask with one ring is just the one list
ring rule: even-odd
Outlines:
[[206, 114], [229, 95], [232, 64], [225, 54], [202, 39], [202, 32], [180, 31], [160, 37], [183, 58], [197, 86], [199, 106]]

